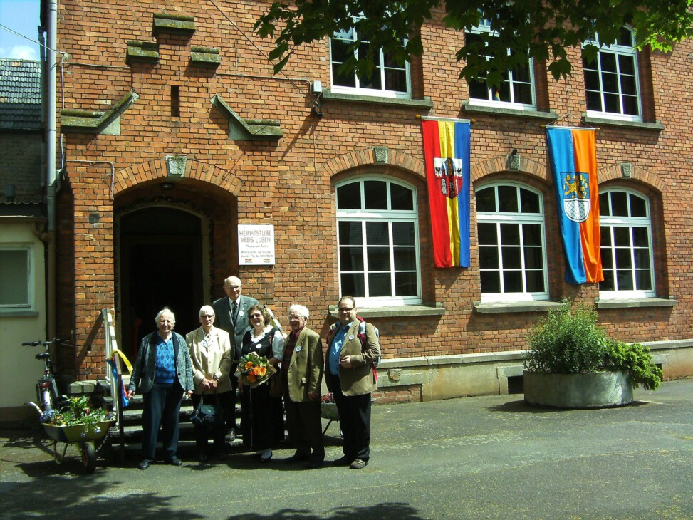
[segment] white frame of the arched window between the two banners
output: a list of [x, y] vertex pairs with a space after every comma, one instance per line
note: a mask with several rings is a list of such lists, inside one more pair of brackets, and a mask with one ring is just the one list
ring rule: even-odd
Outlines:
[[[544, 291], [542, 292], [530, 292], [526, 291], [526, 282], [527, 282], [527, 277], [526, 277], [526, 266], [525, 266], [525, 258], [524, 255], [520, 255], [520, 261], [521, 261], [521, 268], [519, 271], [522, 273], [522, 284], [523, 288], [525, 289], [523, 292], [504, 292], [503, 291], [503, 255], [502, 251], [500, 250], [503, 244], [500, 243], [501, 240], [501, 234], [500, 234], [500, 229], [498, 229], [498, 237], [499, 237], [499, 244], [496, 244], [496, 247], [499, 249], [498, 251], [498, 260], [499, 260], [499, 268], [498, 269], [481, 269], [481, 265], [479, 265], [479, 286], [481, 286], [481, 271], [499, 271], [501, 274], [500, 276], [500, 283], [501, 283], [501, 292], [500, 293], [484, 293], [481, 292], [481, 301], [482, 302], [513, 302], [513, 301], [546, 301], [549, 299], [548, 295], [548, 261], [547, 261], [547, 256], [546, 256], [546, 223], [545, 223], [545, 212], [544, 212], [544, 202], [543, 202], [543, 194], [539, 192], [536, 189], [533, 189], [529, 187], [526, 184], [521, 184], [519, 182], [507, 182], [507, 181], [500, 181], [500, 182], [493, 182], [491, 184], [484, 184], [482, 186], [479, 186], [474, 190], [475, 194], [480, 192], [483, 189], [487, 188], [494, 188], [495, 192], [495, 197], [496, 197], [496, 208], [499, 208], [499, 194], [498, 194], [498, 188], [499, 187], [515, 187], [517, 189], [518, 197], [520, 195], [520, 189], [526, 189], [528, 192], [531, 192], [532, 194], [536, 194], [538, 197], [539, 201], [539, 212], [538, 213], [521, 213], [521, 212], [516, 212], [516, 213], [510, 213], [510, 212], [481, 212], [479, 209], [476, 210], [476, 224], [477, 224], [477, 234], [479, 232], [478, 225], [479, 224], [496, 224], [496, 228], [499, 228], [501, 224], [518, 224], [520, 226], [520, 231], [521, 231], [521, 225], [522, 224], [538, 224], [540, 228], [540, 234], [541, 234], [541, 259], [543, 263], [543, 269], [542, 269], [542, 275], [543, 275], [543, 286], [544, 286]], [[518, 198], [519, 200], [519, 198]], [[482, 244], [480, 241], [477, 241], [477, 247], [481, 248]], [[519, 248], [522, 249], [524, 246], [523, 244], [523, 234], [520, 232], [520, 244]], [[479, 254], [481, 255], [481, 251], [479, 251]], [[508, 269], [506, 269], [507, 271]], [[513, 269], [515, 270], [515, 269]]]

